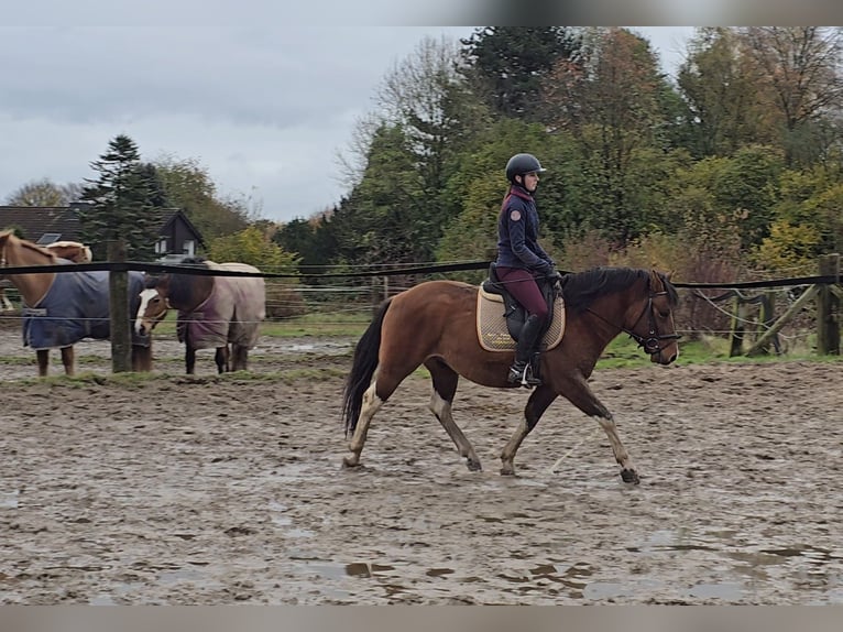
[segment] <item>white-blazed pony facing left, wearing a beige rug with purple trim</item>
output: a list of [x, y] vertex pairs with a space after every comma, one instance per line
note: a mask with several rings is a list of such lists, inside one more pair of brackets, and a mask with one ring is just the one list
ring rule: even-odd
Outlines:
[[[202, 258], [188, 258], [182, 263], [205, 270], [260, 273], [247, 263], [215, 263]], [[151, 333], [171, 307], [178, 309], [176, 333], [178, 341], [185, 344], [187, 374], [195, 372], [198, 349], [216, 349], [218, 373], [247, 370], [249, 349], [258, 344], [260, 323], [266, 316], [263, 277], [189, 273], [149, 276], [140, 295], [135, 331]]]

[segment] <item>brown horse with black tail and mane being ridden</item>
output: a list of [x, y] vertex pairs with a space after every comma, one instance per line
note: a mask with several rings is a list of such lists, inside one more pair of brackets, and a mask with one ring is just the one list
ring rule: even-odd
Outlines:
[[[524, 418], [501, 454], [502, 475], [513, 475], [515, 453], [541, 414], [562, 395], [598, 422], [609, 436], [625, 482], [638, 475], [617, 436], [612, 414], [589, 389], [588, 379], [606, 345], [620, 333], [632, 336], [653, 362], [669, 364], [679, 355], [672, 318], [678, 303], [667, 276], [626, 268], [595, 269], [562, 277], [566, 333], [541, 353], [544, 383], [535, 388]], [[430, 372], [429, 408], [467, 459], [480, 470], [474, 448], [453, 422], [451, 405], [459, 377], [483, 386], [513, 388], [506, 381], [512, 351], [484, 350], [477, 331], [478, 288], [453, 281], [429, 281], [387, 299], [358, 341], [343, 394], [346, 467], [360, 465], [374, 414], [420, 364]], [[516, 384], [515, 388], [518, 385]]]

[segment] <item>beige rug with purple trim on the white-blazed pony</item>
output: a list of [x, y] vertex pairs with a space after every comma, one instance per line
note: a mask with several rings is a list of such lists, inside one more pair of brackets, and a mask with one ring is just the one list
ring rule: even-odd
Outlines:
[[[210, 269], [260, 272], [245, 263], [214, 263]], [[266, 288], [260, 276], [215, 276], [208, 297], [191, 310], [180, 310], [176, 333], [185, 342], [189, 333], [194, 349], [217, 349], [227, 344], [252, 349], [260, 324], [266, 317]]]

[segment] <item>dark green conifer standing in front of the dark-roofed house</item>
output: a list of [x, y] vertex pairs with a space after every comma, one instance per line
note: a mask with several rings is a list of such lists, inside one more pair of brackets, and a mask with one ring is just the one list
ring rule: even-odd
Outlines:
[[95, 259], [107, 259], [107, 244], [123, 241], [128, 259], [154, 259], [157, 219], [151, 213], [156, 185], [154, 172], [141, 164], [138, 145], [128, 135], [119, 134], [109, 142], [108, 151], [90, 163], [99, 174], [83, 190], [89, 206], [79, 209], [81, 237], [91, 246]]

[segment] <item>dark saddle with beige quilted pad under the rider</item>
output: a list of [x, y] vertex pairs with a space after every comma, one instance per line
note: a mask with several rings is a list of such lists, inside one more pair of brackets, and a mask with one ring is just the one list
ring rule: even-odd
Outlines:
[[[556, 283], [539, 283], [548, 306], [548, 319], [540, 336], [539, 350], [552, 349], [565, 334], [565, 302]], [[527, 319], [527, 310], [501, 283], [495, 264], [478, 292], [478, 339], [486, 351], [512, 351]]]

